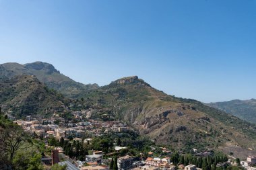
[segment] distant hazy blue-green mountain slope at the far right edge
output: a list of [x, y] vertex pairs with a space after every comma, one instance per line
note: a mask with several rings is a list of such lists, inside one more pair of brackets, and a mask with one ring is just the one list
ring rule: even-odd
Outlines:
[[256, 99], [235, 99], [231, 101], [207, 103], [207, 105], [256, 124]]

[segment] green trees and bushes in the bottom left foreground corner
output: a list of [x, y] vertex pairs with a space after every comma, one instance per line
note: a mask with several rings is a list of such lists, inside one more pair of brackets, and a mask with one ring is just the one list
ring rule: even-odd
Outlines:
[[43, 169], [42, 149], [20, 126], [0, 116], [0, 169]]

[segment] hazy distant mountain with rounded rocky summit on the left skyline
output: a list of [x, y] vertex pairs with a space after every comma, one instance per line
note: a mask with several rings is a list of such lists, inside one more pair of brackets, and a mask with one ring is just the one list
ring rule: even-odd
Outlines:
[[20, 65], [8, 62], [0, 65], [0, 77], [14, 77], [16, 75], [35, 75], [39, 81], [46, 83], [49, 88], [60, 91], [65, 97], [76, 98], [80, 93], [86, 93], [91, 89], [97, 89], [97, 84], [84, 85], [61, 74], [46, 62], [32, 62]]

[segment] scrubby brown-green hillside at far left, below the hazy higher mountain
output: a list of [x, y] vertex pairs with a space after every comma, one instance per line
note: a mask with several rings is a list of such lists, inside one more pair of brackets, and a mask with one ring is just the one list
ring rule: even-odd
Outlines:
[[63, 95], [50, 90], [35, 76], [17, 76], [11, 79], [0, 78], [0, 103], [2, 108], [9, 108], [15, 116], [22, 118], [29, 115], [51, 116], [63, 110]]

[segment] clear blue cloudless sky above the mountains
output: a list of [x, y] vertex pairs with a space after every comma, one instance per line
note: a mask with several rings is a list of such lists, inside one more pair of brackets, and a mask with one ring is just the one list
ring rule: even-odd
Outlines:
[[256, 97], [256, 1], [0, 0], [0, 63], [82, 83], [138, 75], [177, 97]]

